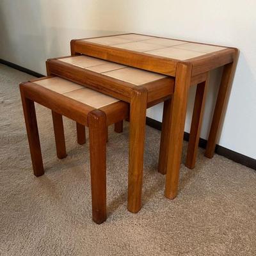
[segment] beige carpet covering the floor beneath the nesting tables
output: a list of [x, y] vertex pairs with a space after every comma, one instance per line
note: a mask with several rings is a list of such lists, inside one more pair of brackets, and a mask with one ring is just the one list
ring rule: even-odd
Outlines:
[[218, 155], [207, 159], [200, 150], [195, 170], [182, 165], [179, 196], [167, 200], [157, 173], [160, 132], [150, 127], [143, 208], [126, 209], [129, 126], [122, 134], [111, 127], [108, 220], [93, 223], [88, 143], [77, 145], [76, 125], [65, 118], [68, 156], [58, 160], [51, 111], [42, 106], [36, 109], [45, 175], [32, 174], [18, 87], [29, 78], [0, 65], [0, 255], [256, 254], [255, 170]]

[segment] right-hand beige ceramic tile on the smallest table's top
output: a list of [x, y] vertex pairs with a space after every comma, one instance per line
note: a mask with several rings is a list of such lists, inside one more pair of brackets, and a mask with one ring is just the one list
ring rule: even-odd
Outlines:
[[119, 101], [118, 99], [109, 97], [108, 95], [105, 95], [103, 93], [93, 91], [89, 88], [83, 88], [76, 91], [64, 93], [63, 95], [82, 102], [83, 104], [86, 104], [93, 108], [102, 108], [104, 106]]

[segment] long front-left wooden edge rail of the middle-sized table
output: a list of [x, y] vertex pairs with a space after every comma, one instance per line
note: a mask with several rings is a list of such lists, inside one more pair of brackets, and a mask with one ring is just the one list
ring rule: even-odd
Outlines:
[[97, 72], [76, 67], [63, 61], [47, 61], [51, 74], [63, 77], [101, 93], [105, 93], [126, 102], [130, 101], [131, 88], [135, 84], [120, 81], [113, 77], [103, 76]]

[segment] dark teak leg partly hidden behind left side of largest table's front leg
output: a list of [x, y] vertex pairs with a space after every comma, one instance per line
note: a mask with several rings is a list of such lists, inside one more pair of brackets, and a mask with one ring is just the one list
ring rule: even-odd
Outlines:
[[159, 150], [158, 172], [166, 174], [167, 156], [168, 156], [168, 137], [171, 125], [171, 104], [172, 100], [164, 101], [161, 143]]

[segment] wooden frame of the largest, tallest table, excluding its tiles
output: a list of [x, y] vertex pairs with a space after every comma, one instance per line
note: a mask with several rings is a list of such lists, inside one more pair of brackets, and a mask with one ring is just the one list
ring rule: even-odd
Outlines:
[[[218, 132], [220, 130], [221, 118], [225, 109], [225, 103], [228, 97], [230, 86], [232, 84], [232, 78], [236, 70], [238, 50], [234, 47], [226, 47], [227, 49], [223, 49], [221, 51], [205, 54], [204, 56], [191, 58], [186, 61], [179, 61], [171, 58], [152, 56], [146, 53], [120, 49], [107, 45], [94, 44], [92, 42], [85, 42], [82, 40], [72, 40], [70, 42], [70, 45], [72, 49], [72, 54], [85, 54], [103, 60], [114, 61], [116, 63], [175, 77], [172, 106], [170, 107], [170, 109], [168, 109], [167, 105], [165, 105], [165, 108], [168, 109], [168, 113], [171, 115], [170, 123], [172, 125], [169, 124], [170, 138], [168, 138], [168, 143], [165, 143], [164, 146], [168, 147], [168, 150], [165, 150], [166, 152], [168, 152], [165, 196], [170, 199], [175, 198], [175, 196], [177, 196], [177, 188], [179, 183], [180, 158], [182, 153], [182, 140], [186, 118], [186, 106], [188, 102], [189, 86], [191, 84], [199, 85], [196, 90], [195, 102], [197, 102], [198, 100], [200, 102], [200, 104], [195, 104], [193, 111], [193, 118], [191, 123], [191, 133], [193, 134], [189, 138], [188, 148], [188, 158], [190, 160], [187, 158], [186, 161], [186, 166], [188, 166], [189, 168], [193, 168], [195, 166], [195, 156], [193, 156], [191, 150], [191, 148], [193, 147], [190, 145], [194, 145], [195, 143], [198, 145], [200, 130], [196, 131], [196, 125], [199, 124], [200, 126], [202, 122], [203, 108], [201, 108], [200, 106], [204, 105], [206, 92], [205, 85], [202, 83], [202, 81], [205, 81], [206, 79], [202, 79], [202, 81], [196, 81], [196, 79], [198, 79], [198, 77], [200, 76], [207, 76], [207, 72], [213, 70], [214, 68], [224, 67], [220, 89], [214, 109], [214, 115], [212, 117], [212, 124], [209, 132], [207, 148], [205, 150], [205, 156], [212, 158], [216, 147]], [[136, 106], [135, 102], [132, 102], [132, 104]], [[131, 105], [131, 109], [132, 108], [133, 106]], [[141, 110], [141, 115], [144, 113], [145, 110]], [[200, 114], [198, 115], [196, 113]], [[135, 122], [137, 120], [138, 118], [134, 118]], [[163, 125], [164, 129], [166, 129], [165, 126], [166, 125]], [[132, 129], [133, 128], [131, 128], [131, 130]], [[142, 134], [140, 134], [140, 136], [143, 138]], [[134, 135], [131, 135], [131, 140], [133, 137], [135, 138]], [[133, 151], [131, 150], [130, 157], [132, 156], [132, 152]], [[141, 163], [137, 163], [137, 161], [138, 158], [135, 159], [135, 164], [131, 164], [129, 166], [129, 170], [130, 168], [134, 168], [134, 170], [136, 170], [136, 167], [134, 165], [137, 165], [137, 168], [141, 168]], [[140, 193], [134, 193], [136, 193], [137, 195], [134, 196], [134, 198], [140, 197]], [[132, 209], [135, 209], [135, 211], [140, 209], [139, 199], [136, 201]]]

